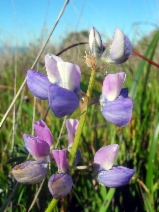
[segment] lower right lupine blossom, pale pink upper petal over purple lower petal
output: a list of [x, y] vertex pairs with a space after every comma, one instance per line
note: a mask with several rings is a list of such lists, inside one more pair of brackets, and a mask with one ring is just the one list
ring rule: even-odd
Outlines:
[[123, 166], [113, 166], [119, 146], [111, 144], [99, 149], [94, 156], [94, 168], [98, 181], [107, 187], [116, 188], [128, 184], [134, 170]]

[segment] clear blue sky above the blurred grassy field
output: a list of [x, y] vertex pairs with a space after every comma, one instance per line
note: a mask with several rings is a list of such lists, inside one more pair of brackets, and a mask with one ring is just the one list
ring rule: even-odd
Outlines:
[[[45, 23], [47, 36], [65, 0], [0, 0], [0, 46], [27, 46], [37, 41]], [[115, 27], [120, 28], [132, 42], [159, 25], [158, 0], [70, 0], [51, 38], [53, 43], [72, 31], [90, 30], [92, 26], [103, 41], [111, 38]]]

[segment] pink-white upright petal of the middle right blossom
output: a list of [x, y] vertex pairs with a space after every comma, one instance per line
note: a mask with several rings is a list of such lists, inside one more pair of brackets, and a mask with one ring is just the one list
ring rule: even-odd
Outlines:
[[115, 100], [120, 94], [125, 77], [126, 74], [124, 72], [108, 74], [103, 82], [102, 96], [108, 101]]

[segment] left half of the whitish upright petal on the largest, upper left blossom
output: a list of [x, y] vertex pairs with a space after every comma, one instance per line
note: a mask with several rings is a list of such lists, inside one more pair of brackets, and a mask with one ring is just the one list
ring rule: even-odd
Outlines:
[[62, 62], [60, 57], [52, 54], [47, 54], [45, 56], [45, 66], [50, 82], [61, 86], [61, 76], [57, 67], [57, 62]]

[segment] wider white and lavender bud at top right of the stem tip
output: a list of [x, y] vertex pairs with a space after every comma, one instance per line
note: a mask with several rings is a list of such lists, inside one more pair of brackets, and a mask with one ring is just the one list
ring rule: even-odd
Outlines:
[[116, 28], [111, 44], [109, 59], [112, 63], [124, 63], [132, 53], [132, 45], [129, 38], [120, 29]]

